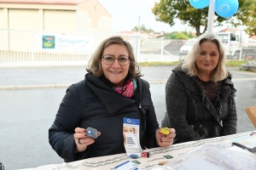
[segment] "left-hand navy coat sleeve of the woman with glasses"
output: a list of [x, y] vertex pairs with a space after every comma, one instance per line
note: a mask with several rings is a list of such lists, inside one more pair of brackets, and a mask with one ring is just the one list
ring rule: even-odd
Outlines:
[[74, 153], [76, 144], [73, 138], [74, 129], [79, 127], [80, 120], [79, 93], [72, 85], [67, 88], [67, 93], [55, 116], [55, 122], [49, 128], [49, 144], [65, 161], [76, 161], [82, 154]]

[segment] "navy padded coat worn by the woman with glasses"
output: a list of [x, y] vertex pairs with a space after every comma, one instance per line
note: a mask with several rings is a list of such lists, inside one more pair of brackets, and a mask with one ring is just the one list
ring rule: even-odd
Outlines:
[[[49, 144], [65, 161], [125, 153], [124, 117], [140, 119], [143, 149], [157, 146], [155, 131], [159, 124], [148, 82], [137, 78], [137, 92], [129, 99], [116, 93], [101, 77], [86, 74], [84, 81], [67, 88], [55, 122], [49, 128]], [[101, 136], [84, 152], [74, 153], [73, 133], [76, 127], [96, 128]]]

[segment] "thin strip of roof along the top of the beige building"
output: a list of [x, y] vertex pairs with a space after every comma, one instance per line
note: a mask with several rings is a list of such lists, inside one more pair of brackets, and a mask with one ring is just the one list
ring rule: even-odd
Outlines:
[[75, 5], [84, 1], [88, 1], [88, 0], [0, 0], [0, 3], [74, 4]]

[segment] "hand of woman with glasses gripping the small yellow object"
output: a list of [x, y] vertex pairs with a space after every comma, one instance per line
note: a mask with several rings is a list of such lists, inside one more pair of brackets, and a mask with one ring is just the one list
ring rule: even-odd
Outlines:
[[167, 147], [173, 144], [176, 136], [174, 128], [169, 128], [170, 134], [160, 133], [160, 129], [155, 132], [155, 139], [160, 147]]

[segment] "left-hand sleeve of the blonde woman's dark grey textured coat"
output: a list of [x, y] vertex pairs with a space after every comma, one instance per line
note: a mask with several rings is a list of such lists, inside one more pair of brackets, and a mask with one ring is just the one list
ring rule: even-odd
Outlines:
[[161, 122], [161, 127], [175, 128], [175, 139], [178, 142], [201, 139], [186, 120], [189, 114], [187, 102], [189, 101], [183, 82], [180, 82], [177, 73], [173, 72], [166, 83], [166, 116]]

